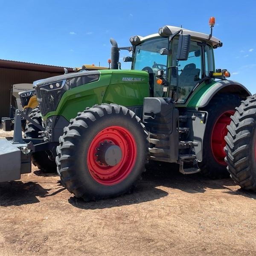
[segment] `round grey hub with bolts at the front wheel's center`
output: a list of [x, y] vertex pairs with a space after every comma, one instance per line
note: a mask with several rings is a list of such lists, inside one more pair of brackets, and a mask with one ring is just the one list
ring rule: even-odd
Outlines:
[[113, 145], [111, 141], [105, 141], [100, 143], [97, 155], [102, 165], [116, 166], [122, 159], [122, 150], [118, 145]]

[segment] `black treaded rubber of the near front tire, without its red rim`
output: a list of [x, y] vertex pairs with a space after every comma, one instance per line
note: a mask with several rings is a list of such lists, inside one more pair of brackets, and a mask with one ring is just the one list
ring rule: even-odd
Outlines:
[[[99, 137], [100, 132], [113, 125], [124, 127], [132, 135], [137, 147], [137, 157], [124, 180], [107, 186], [99, 183], [91, 174], [88, 156], [93, 140]], [[123, 106], [95, 105], [78, 113], [70, 125], [64, 128], [64, 135], [60, 137], [60, 145], [57, 147], [57, 172], [63, 185], [69, 192], [85, 201], [96, 201], [130, 192], [145, 171], [148, 151], [146, 138], [145, 126], [140, 118]], [[130, 158], [131, 156], [125, 161], [132, 161]]]

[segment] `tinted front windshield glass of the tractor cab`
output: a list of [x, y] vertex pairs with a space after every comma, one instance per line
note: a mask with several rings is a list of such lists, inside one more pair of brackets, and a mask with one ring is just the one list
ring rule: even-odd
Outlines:
[[142, 70], [144, 67], [151, 67], [154, 73], [160, 69], [166, 70], [167, 55], [159, 53], [162, 48], [168, 48], [168, 38], [153, 38], [137, 45], [132, 69]]

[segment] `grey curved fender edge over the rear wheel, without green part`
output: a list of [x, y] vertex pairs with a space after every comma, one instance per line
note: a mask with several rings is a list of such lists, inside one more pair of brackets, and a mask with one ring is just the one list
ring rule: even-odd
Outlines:
[[204, 97], [201, 99], [201, 102], [199, 102], [197, 108], [204, 108], [206, 107], [211, 99], [220, 94], [220, 93], [232, 93], [232, 94], [237, 94], [241, 97], [241, 99], [245, 100], [248, 96], [251, 96], [252, 94], [250, 93], [247, 88], [232, 80], [224, 80], [224, 81], [219, 81], [212, 86], [207, 93], [204, 95]]

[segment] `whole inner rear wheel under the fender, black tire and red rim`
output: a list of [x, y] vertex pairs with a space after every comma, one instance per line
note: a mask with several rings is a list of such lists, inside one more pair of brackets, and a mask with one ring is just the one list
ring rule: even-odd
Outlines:
[[201, 174], [211, 179], [229, 177], [227, 163], [225, 163], [224, 147], [227, 135], [227, 125], [230, 124], [236, 107], [241, 104], [239, 96], [233, 94], [219, 94], [201, 109], [208, 112], [207, 125], [203, 141], [202, 162], [198, 163]]

